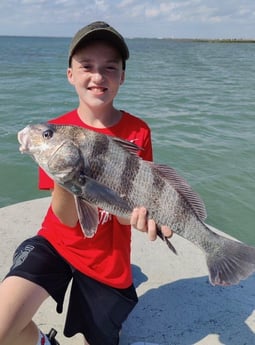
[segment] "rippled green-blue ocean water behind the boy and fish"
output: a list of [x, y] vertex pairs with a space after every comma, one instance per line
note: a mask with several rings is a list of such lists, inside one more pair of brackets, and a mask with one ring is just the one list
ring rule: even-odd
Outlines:
[[[48, 196], [17, 131], [77, 106], [68, 38], [0, 37], [0, 207]], [[154, 160], [203, 198], [207, 223], [255, 245], [255, 44], [129, 39], [116, 106], [145, 119]]]

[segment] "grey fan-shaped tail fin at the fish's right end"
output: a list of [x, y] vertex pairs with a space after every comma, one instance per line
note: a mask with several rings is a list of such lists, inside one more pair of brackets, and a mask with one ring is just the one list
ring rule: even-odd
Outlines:
[[255, 272], [255, 247], [221, 237], [221, 249], [207, 256], [212, 285], [234, 285]]

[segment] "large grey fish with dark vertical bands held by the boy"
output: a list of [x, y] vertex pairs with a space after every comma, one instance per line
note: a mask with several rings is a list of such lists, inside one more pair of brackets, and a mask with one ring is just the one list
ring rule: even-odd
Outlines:
[[166, 225], [203, 251], [212, 285], [235, 285], [255, 272], [255, 247], [212, 231], [204, 202], [188, 182], [168, 165], [141, 159], [134, 143], [52, 123], [26, 126], [18, 141], [21, 153], [74, 195], [84, 236], [95, 235], [98, 208], [129, 218], [144, 206], [161, 238]]

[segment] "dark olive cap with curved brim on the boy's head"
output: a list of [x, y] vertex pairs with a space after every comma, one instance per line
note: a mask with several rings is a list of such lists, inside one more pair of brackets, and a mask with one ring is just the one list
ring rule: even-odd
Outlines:
[[123, 62], [129, 58], [129, 50], [121, 34], [109, 24], [102, 21], [97, 21], [83, 27], [74, 35], [68, 53], [69, 66], [75, 50], [80, 45], [86, 44], [86, 42], [91, 42], [93, 40], [110, 42], [120, 52]]

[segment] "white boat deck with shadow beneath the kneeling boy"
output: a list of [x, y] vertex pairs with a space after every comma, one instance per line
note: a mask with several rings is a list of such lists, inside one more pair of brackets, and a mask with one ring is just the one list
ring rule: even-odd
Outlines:
[[[0, 209], [0, 278], [17, 244], [33, 236], [50, 199], [36, 199]], [[255, 344], [255, 275], [232, 287], [208, 282], [199, 249], [175, 235], [175, 256], [158, 239], [133, 230], [132, 264], [139, 303], [125, 322], [120, 345], [252, 345]], [[83, 345], [80, 335], [62, 335], [65, 313], [49, 299], [35, 321], [46, 333], [58, 331], [60, 345]]]

